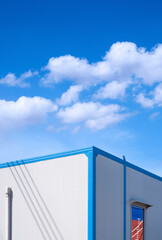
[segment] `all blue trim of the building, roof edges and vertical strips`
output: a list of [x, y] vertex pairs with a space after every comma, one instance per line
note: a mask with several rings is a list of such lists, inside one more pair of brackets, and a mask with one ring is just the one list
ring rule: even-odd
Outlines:
[[9, 166], [12, 167], [77, 154], [85, 154], [88, 157], [88, 240], [96, 240], [96, 157], [97, 155], [102, 155], [123, 165], [123, 240], [126, 240], [126, 168], [129, 167], [159, 181], [162, 181], [162, 177], [144, 170], [143, 168], [137, 167], [132, 163], [129, 163], [94, 146], [75, 151], [2, 163], [0, 164], [0, 169], [8, 168]]

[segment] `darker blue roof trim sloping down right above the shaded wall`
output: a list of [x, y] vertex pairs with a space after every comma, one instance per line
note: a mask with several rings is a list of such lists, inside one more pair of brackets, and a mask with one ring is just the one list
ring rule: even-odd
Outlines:
[[132, 168], [132, 169], [134, 169], [134, 170], [136, 170], [136, 171], [138, 171], [140, 173], [143, 173], [143, 174], [145, 174], [145, 175], [147, 175], [149, 177], [152, 177], [152, 178], [162, 182], [162, 177], [160, 177], [160, 176], [158, 176], [158, 175], [156, 175], [154, 173], [151, 173], [151, 172], [149, 172], [149, 171], [147, 171], [147, 170], [145, 170], [143, 168], [140, 168], [140, 167], [138, 167], [138, 166], [136, 166], [136, 165], [134, 165], [132, 163], [129, 163], [127, 161], [125, 161], [125, 163], [124, 163], [123, 159], [118, 158], [118, 157], [116, 157], [116, 156], [114, 156], [114, 155], [112, 155], [112, 154], [110, 154], [108, 152], [105, 152], [105, 151], [103, 151], [103, 150], [101, 150], [99, 148], [94, 147], [94, 149], [96, 149], [97, 154], [103, 155], [104, 157], [107, 157], [107, 158], [109, 158], [109, 159], [111, 159], [111, 160], [113, 160], [115, 162], [118, 162], [118, 163], [120, 163], [122, 165], [126, 164], [126, 167]]

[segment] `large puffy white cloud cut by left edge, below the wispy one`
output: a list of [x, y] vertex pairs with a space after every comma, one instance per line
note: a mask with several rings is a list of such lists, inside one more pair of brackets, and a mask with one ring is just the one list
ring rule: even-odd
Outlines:
[[17, 101], [0, 100], [0, 130], [20, 128], [45, 120], [47, 113], [57, 110], [49, 99], [20, 97]]

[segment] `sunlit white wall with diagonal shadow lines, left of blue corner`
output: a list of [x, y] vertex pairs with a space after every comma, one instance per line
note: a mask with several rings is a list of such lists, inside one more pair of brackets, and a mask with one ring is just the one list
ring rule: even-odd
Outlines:
[[0, 169], [0, 239], [5, 188], [13, 191], [15, 240], [87, 240], [88, 158], [84, 154]]

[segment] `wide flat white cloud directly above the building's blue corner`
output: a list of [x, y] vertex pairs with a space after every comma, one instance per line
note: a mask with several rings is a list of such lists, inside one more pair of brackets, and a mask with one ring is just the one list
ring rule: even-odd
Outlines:
[[117, 104], [102, 105], [87, 102], [75, 103], [71, 107], [60, 109], [57, 116], [63, 123], [83, 122], [88, 128], [99, 130], [128, 117], [123, 111], [124, 109]]

